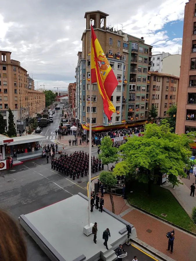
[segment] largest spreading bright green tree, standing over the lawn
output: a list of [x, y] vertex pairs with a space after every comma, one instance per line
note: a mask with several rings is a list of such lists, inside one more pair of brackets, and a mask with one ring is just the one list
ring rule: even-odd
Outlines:
[[[159, 173], [167, 173], [169, 182], [178, 185], [178, 175], [185, 177], [183, 168], [186, 164], [190, 166], [189, 143], [195, 135], [179, 136], [170, 131], [169, 124], [146, 124], [142, 137], [128, 138], [128, 141], [120, 146], [124, 154], [124, 163], [116, 164], [114, 173], [120, 169], [121, 175], [128, 179], [136, 178], [139, 182], [148, 183], [149, 194], [151, 179], [156, 182]], [[127, 166], [124, 172], [122, 164]]]

